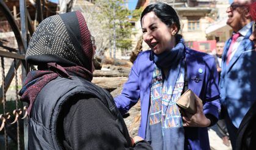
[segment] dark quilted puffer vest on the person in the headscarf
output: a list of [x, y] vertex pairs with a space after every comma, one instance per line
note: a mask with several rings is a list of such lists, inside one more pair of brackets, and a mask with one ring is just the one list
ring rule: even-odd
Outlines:
[[[63, 115], [60, 114], [60, 112], [63, 112], [61, 111], [63, 106], [68, 102], [73, 101], [74, 98], [81, 98], [82, 101], [87, 96], [92, 96], [93, 98], [98, 99], [98, 101], [101, 101], [111, 112], [109, 113], [111, 114], [109, 120], [115, 120], [115, 124], [110, 124], [112, 127], [108, 132], [111, 133], [111, 130], [117, 130], [119, 135], [116, 135], [117, 137], [115, 137], [115, 139], [122, 138], [122, 149], [130, 149], [132, 146], [128, 130], [126, 129], [123, 118], [117, 110], [117, 107], [114, 105], [112, 96], [108, 91], [76, 76], [72, 76], [71, 79], [57, 77], [57, 79], [46, 84], [40, 93], [38, 93], [29, 118], [29, 149], [65, 149], [62, 143], [64, 137], [60, 136], [65, 133], [58, 134], [59, 132], [64, 132], [64, 130], [62, 130], [63, 123], [61, 123], [61, 120], [63, 119], [59, 117]], [[100, 104], [102, 104], [101, 102]], [[79, 129], [82, 130], [84, 127], [79, 126], [78, 130]], [[90, 129], [87, 130], [90, 131]], [[111, 141], [111, 139], [102, 140]], [[99, 141], [96, 141], [95, 143], [97, 142]], [[81, 145], [86, 145], [86, 141], [81, 143]], [[146, 148], [145, 146], [148, 147], [149, 144], [144, 142], [143, 146], [142, 142], [141, 147]], [[140, 146], [137, 145], [137, 148], [135, 147], [134, 149], [140, 149], [139, 147]], [[148, 148], [150, 149], [150, 147]], [[90, 148], [83, 147], [82, 149]]]

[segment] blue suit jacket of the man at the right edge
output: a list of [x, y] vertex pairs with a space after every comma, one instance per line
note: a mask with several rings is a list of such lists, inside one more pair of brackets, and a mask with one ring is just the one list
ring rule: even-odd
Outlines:
[[235, 127], [239, 127], [244, 116], [256, 101], [256, 51], [249, 40], [252, 27], [244, 36], [238, 49], [226, 65], [231, 38], [226, 41], [222, 55], [222, 72], [219, 88], [221, 103], [227, 108]]

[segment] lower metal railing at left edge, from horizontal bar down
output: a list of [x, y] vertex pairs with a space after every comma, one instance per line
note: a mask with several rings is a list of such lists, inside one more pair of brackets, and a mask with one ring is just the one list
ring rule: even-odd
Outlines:
[[[21, 66], [21, 61], [24, 61], [24, 55], [15, 54], [12, 52], [6, 52], [6, 51], [0, 51], [0, 57], [1, 57], [1, 76], [2, 76], [2, 110], [3, 112], [0, 114], [0, 132], [1, 130], [4, 130], [4, 148], [9, 149], [9, 138], [11, 135], [13, 135], [12, 132], [8, 132], [10, 130], [10, 127], [12, 125], [16, 125], [16, 136], [12, 136], [12, 140], [15, 141], [16, 148], [17, 149], [24, 149], [24, 144], [21, 143], [21, 123], [26, 123], [27, 117], [27, 111], [26, 106], [23, 108], [19, 108], [19, 97], [18, 97], [18, 67]], [[13, 59], [13, 64], [10, 66], [10, 69], [13, 68], [13, 74], [7, 74], [5, 76], [5, 59]], [[12, 67], [17, 66], [17, 67]], [[10, 72], [10, 70], [9, 70]], [[7, 87], [9, 87], [9, 83], [6, 82], [7, 80], [13, 79], [15, 80], [15, 109], [12, 110], [12, 113], [7, 112], [7, 98], [6, 98], [6, 91]], [[8, 85], [9, 84], [9, 85]]]

